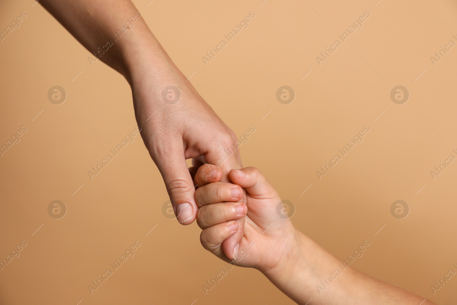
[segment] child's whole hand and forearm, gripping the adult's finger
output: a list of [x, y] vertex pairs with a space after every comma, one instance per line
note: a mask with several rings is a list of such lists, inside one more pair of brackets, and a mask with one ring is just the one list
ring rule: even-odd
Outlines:
[[[276, 214], [281, 198], [256, 168], [233, 169], [229, 176], [233, 183], [220, 182], [222, 170], [204, 164], [194, 178], [200, 186], [195, 199], [199, 207], [197, 223], [203, 229], [202, 246], [217, 257], [232, 261], [221, 244], [236, 232], [235, 219], [245, 217], [239, 248], [247, 246], [250, 250], [236, 265], [258, 269], [298, 304], [307, 304], [310, 299], [308, 305], [435, 304], [352, 267], [341, 268], [343, 263], [339, 259], [295, 229], [290, 219]], [[237, 187], [239, 191], [242, 187], [246, 190], [245, 203], [232, 195], [232, 189]], [[250, 247], [250, 241], [255, 246]], [[324, 286], [321, 281], [335, 274], [335, 269], [341, 274], [334, 275], [336, 279], [327, 280]], [[325, 289], [318, 289], [317, 285]]]

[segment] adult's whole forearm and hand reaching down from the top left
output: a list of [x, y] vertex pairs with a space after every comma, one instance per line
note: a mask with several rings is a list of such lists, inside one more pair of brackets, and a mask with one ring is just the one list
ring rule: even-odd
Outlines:
[[[38, 3], [89, 50], [92, 58], [99, 58], [126, 78], [144, 144], [162, 174], [177, 219], [182, 225], [191, 224], [197, 205], [186, 159], [218, 164], [223, 169], [222, 181], [228, 182], [228, 171], [241, 166], [239, 150], [227, 153], [237, 141], [234, 132], [186, 81], [130, 0]], [[115, 37], [118, 31], [120, 38]], [[168, 86], [179, 89], [179, 102], [163, 101], [162, 91]], [[236, 221], [237, 233], [223, 242], [229, 257], [243, 237], [244, 218]]]

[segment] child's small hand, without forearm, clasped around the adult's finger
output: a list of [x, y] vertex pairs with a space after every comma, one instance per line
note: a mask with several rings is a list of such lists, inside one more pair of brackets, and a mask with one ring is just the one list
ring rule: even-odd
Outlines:
[[[243, 267], [264, 272], [276, 267], [291, 255], [296, 246], [295, 229], [288, 218], [276, 213], [281, 198], [270, 182], [254, 167], [231, 170], [230, 180], [219, 182], [221, 170], [204, 164], [195, 175], [199, 186], [195, 193], [197, 224], [203, 229], [202, 246], [216, 256]], [[215, 177], [215, 178], [212, 178]], [[246, 204], [237, 202], [246, 190]], [[246, 216], [244, 236], [234, 248], [222, 242], [238, 230], [234, 219]]]

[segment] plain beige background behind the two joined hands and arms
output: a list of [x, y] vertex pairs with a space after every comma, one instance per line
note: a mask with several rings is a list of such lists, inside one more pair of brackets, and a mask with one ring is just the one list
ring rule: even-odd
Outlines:
[[[183, 73], [197, 70], [192, 84], [234, 132], [255, 126], [241, 146], [244, 165], [294, 203], [299, 230], [340, 259], [368, 240], [354, 268], [456, 304], [457, 278], [436, 294], [430, 285], [457, 263], [457, 165], [435, 180], [430, 171], [457, 156], [457, 50], [435, 66], [430, 56], [457, 43], [457, 4], [262, 1], [134, 3]], [[91, 66], [90, 52], [33, 3], [3, 1], [0, 10], [1, 30], [27, 13], [0, 43], [0, 143], [27, 127], [0, 157], [0, 257], [27, 241], [0, 271], [0, 303], [293, 304], [262, 274], [238, 267], [203, 293], [223, 262], [202, 248], [195, 223], [161, 213], [167, 193], [140, 137], [89, 179], [136, 126], [131, 91], [102, 62]], [[202, 56], [250, 11], [249, 27], [205, 66]], [[365, 11], [363, 27], [319, 66], [316, 56]], [[68, 95], [61, 105], [47, 98], [55, 85]], [[296, 93], [289, 105], [275, 97], [283, 85]], [[404, 105], [390, 100], [398, 85], [410, 93]], [[363, 142], [319, 180], [320, 166], [364, 126]], [[47, 212], [56, 199], [68, 208], [62, 219]], [[390, 213], [398, 199], [410, 208], [404, 219]], [[92, 280], [136, 240], [134, 257], [90, 295]]]

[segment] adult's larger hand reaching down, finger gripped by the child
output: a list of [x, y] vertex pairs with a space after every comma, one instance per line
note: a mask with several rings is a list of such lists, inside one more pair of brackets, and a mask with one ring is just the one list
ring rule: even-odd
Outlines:
[[[186, 159], [213, 164], [221, 181], [229, 182], [229, 170], [241, 167], [237, 138], [179, 70], [168, 66], [153, 76], [136, 61], [131, 64], [133, 102], [144, 143], [164, 178], [178, 221], [191, 224], [197, 215], [196, 186]], [[143, 66], [149, 70], [147, 62]], [[242, 190], [234, 197], [245, 201]], [[224, 242], [232, 252], [243, 236], [244, 218], [238, 225], [240, 230]]]

